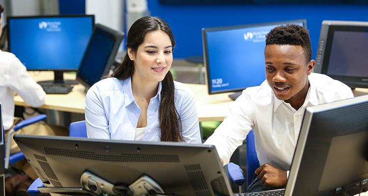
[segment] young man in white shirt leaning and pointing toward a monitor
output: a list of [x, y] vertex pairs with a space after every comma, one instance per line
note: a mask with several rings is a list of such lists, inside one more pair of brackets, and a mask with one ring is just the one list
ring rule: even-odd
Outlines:
[[306, 107], [354, 97], [342, 82], [312, 73], [311, 41], [302, 26], [272, 29], [266, 36], [264, 57], [266, 80], [242, 92], [205, 142], [216, 147], [225, 165], [253, 129], [261, 167], [248, 192], [286, 185]]

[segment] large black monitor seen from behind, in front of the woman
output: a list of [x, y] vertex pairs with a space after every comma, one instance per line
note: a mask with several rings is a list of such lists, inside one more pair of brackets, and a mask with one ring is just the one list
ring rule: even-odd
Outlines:
[[214, 146], [37, 135], [14, 139], [45, 185], [40, 192], [233, 196]]

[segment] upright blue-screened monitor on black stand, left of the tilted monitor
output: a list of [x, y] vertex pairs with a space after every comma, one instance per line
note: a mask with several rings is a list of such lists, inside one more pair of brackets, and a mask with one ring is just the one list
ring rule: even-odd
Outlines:
[[28, 71], [53, 71], [40, 84], [78, 84], [63, 72], [77, 71], [94, 27], [94, 15], [8, 17], [9, 51]]

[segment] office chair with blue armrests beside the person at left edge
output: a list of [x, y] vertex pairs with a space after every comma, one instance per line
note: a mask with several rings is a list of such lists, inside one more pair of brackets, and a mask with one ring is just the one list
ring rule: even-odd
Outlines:
[[[6, 143], [6, 147], [5, 147], [5, 157], [4, 157], [4, 161], [5, 161], [5, 164], [4, 164], [4, 168], [5, 169], [8, 169], [9, 168], [9, 165], [19, 161], [19, 160], [22, 160], [22, 159], [25, 159], [25, 156], [23, 155], [22, 152], [17, 152], [17, 153], [14, 153], [14, 154], [10, 154], [10, 141], [11, 141], [11, 137], [13, 135], [13, 133], [15, 133], [16, 131], [18, 131], [19, 129], [29, 125], [29, 124], [33, 124], [33, 123], [36, 123], [36, 122], [39, 122], [39, 121], [42, 121], [42, 120], [45, 120], [46, 119], [46, 115], [45, 114], [40, 114], [40, 115], [37, 115], [35, 117], [32, 117], [32, 118], [29, 118], [29, 119], [26, 119], [26, 120], [23, 120], [19, 123], [17, 123], [12, 129], [9, 130], [8, 132], [8, 137], [7, 137], [7, 142]], [[3, 134], [3, 137], [5, 134]]]

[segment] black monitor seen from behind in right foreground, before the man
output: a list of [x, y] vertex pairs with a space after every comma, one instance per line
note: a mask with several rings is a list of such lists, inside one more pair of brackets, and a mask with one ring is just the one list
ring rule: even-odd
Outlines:
[[308, 107], [285, 196], [352, 196], [367, 178], [368, 95]]

